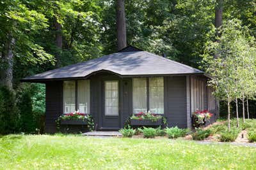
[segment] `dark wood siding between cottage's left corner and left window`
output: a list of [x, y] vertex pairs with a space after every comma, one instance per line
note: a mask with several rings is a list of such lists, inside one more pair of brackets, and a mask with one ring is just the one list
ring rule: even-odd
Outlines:
[[45, 90], [45, 132], [56, 132], [56, 119], [63, 112], [62, 81], [46, 83]]

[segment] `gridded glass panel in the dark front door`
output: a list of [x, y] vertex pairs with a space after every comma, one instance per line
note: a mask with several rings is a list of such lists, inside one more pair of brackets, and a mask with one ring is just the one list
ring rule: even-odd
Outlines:
[[105, 81], [105, 115], [118, 116], [118, 81]]

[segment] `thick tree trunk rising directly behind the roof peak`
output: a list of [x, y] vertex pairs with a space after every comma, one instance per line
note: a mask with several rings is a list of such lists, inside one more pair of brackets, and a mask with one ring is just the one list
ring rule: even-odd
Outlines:
[[124, 4], [124, 0], [118, 0], [116, 5], [117, 50], [127, 46]]

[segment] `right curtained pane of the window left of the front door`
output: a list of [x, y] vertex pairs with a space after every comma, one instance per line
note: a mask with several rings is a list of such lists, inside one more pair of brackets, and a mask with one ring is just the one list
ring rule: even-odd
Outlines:
[[77, 81], [77, 102], [80, 113], [90, 113], [90, 80]]

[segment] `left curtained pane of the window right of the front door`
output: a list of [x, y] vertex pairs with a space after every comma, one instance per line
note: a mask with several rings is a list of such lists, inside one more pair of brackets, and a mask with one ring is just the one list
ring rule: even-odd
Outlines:
[[132, 79], [132, 112], [147, 112], [147, 78]]

